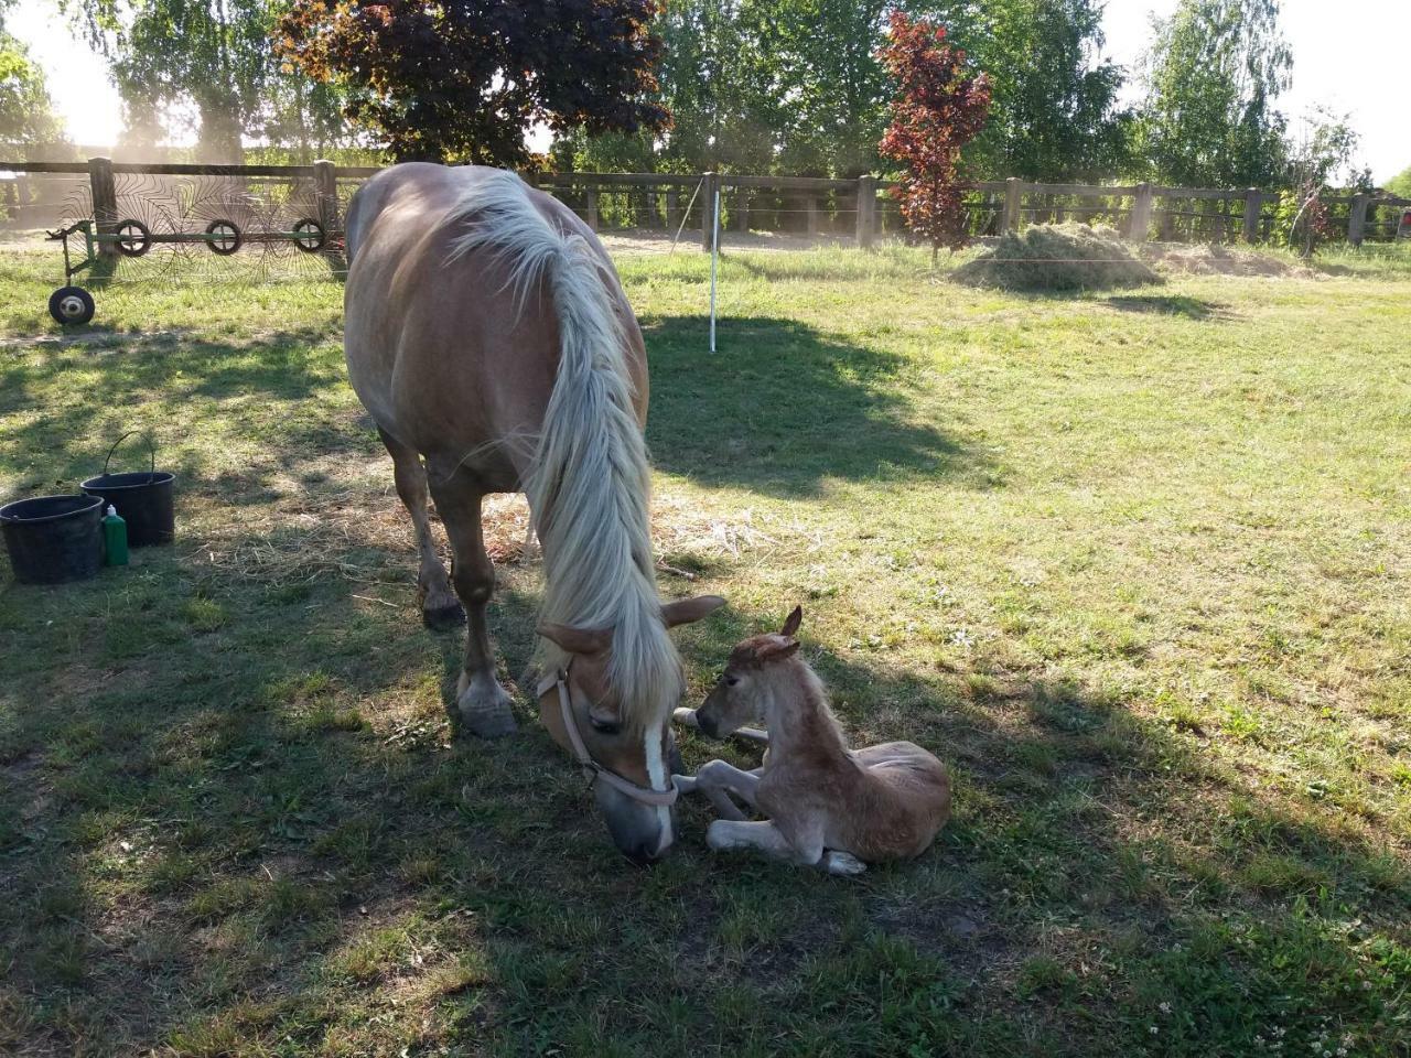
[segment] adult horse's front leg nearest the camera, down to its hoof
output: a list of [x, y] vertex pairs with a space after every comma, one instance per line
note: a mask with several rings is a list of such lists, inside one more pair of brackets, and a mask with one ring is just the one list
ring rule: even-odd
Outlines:
[[490, 645], [485, 607], [495, 591], [495, 566], [485, 554], [480, 526], [481, 494], [454, 478], [432, 484], [436, 509], [452, 549], [452, 580], [466, 607], [466, 663], [456, 683], [456, 708], [471, 734], [499, 738], [515, 729], [509, 695], [495, 679], [495, 653]]

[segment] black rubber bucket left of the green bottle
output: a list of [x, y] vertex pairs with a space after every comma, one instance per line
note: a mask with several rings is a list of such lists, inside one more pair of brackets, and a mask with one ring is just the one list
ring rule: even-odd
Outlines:
[[0, 530], [21, 584], [62, 584], [103, 567], [103, 498], [37, 497], [0, 506]]

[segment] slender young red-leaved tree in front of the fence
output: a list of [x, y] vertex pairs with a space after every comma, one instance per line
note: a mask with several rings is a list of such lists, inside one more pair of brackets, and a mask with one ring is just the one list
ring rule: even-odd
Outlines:
[[900, 189], [902, 216], [931, 243], [931, 260], [944, 245], [964, 245], [961, 150], [989, 116], [989, 80], [945, 44], [945, 27], [892, 13], [888, 42], [878, 52], [896, 82], [892, 124], [879, 150], [907, 169]]

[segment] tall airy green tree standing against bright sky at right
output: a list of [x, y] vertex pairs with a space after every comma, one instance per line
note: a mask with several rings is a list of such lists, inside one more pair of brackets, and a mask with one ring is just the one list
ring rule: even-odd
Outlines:
[[1156, 23], [1139, 124], [1149, 175], [1181, 186], [1274, 186], [1292, 59], [1277, 0], [1181, 0]]

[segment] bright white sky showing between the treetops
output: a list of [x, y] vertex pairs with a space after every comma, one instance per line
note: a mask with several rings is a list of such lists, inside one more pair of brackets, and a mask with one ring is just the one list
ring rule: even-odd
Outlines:
[[[1133, 69], [1151, 39], [1151, 17], [1177, 0], [1108, 0], [1105, 54]], [[1411, 165], [1411, 99], [1407, 97], [1408, 0], [1283, 0], [1283, 27], [1294, 52], [1294, 85], [1278, 106], [1297, 127], [1314, 106], [1350, 114], [1362, 135], [1360, 161], [1384, 183]], [[117, 90], [106, 65], [76, 41], [54, 0], [20, 0], [7, 25], [30, 45], [49, 79], [69, 137], [109, 145], [121, 130]], [[1401, 86], [1398, 90], [1398, 85]], [[1129, 99], [1134, 86], [1127, 86]], [[189, 142], [175, 135], [176, 142]]]

